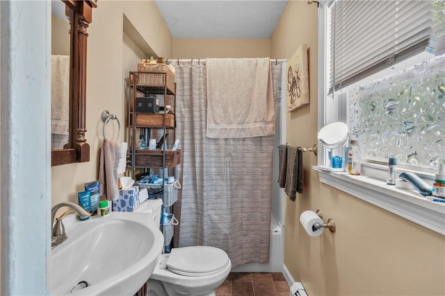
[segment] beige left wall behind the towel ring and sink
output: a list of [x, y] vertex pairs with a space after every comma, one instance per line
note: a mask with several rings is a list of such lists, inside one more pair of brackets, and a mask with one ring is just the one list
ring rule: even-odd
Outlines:
[[[77, 202], [83, 183], [97, 180], [99, 149], [102, 146], [103, 110], [117, 114], [124, 139], [129, 71], [136, 71], [142, 52], [123, 33], [124, 15], [157, 55], [172, 56], [173, 38], [153, 1], [101, 0], [92, 12], [88, 28], [88, 74], [86, 138], [90, 162], [51, 168], [51, 204]], [[124, 58], [123, 58], [124, 57]], [[115, 137], [117, 125], [107, 126]]]

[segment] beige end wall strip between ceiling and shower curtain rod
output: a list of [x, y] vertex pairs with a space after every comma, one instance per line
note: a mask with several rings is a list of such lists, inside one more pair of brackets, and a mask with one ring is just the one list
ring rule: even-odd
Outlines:
[[270, 40], [175, 39], [173, 58], [269, 58]]

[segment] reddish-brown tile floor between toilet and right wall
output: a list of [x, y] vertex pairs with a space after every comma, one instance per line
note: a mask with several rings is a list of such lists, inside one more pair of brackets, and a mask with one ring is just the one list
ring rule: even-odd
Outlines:
[[281, 272], [231, 272], [216, 296], [289, 296]]

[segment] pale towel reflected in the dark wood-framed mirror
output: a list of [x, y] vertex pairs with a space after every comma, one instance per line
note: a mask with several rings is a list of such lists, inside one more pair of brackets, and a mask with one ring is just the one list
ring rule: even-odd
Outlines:
[[51, 133], [68, 134], [70, 55], [51, 55]]

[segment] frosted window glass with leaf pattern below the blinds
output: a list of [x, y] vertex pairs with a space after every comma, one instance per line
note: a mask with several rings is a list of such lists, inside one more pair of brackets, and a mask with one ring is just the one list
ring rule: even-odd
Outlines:
[[436, 167], [445, 157], [445, 54], [350, 89], [348, 100], [364, 159]]

